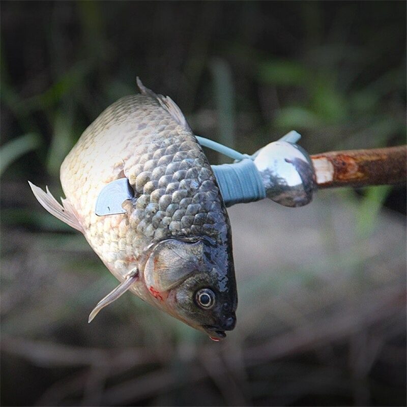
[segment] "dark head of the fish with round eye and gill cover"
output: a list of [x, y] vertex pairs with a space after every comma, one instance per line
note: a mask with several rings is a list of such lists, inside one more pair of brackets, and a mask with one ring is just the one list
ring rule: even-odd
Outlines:
[[143, 269], [150, 301], [211, 339], [235, 328], [237, 288], [230, 245], [210, 239], [168, 239]]

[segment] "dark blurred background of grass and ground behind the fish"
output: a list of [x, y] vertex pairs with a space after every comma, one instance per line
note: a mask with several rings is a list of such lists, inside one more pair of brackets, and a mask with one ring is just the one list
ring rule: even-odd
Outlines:
[[137, 75], [242, 152], [405, 143], [405, 2], [0, 6], [2, 405], [405, 405], [405, 188], [231, 208], [238, 327], [210, 343], [130, 294], [88, 325], [115, 280], [26, 183], [62, 195]]

